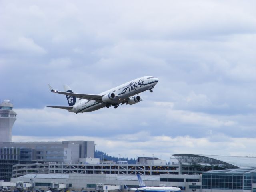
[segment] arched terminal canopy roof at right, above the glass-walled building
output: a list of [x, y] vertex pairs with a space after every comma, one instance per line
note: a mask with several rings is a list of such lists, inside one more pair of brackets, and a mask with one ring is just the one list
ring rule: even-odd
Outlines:
[[255, 157], [220, 156], [220, 155], [196, 155], [196, 154], [174, 154], [175, 158], [184, 163], [210, 164], [224, 168], [248, 168], [256, 167]]

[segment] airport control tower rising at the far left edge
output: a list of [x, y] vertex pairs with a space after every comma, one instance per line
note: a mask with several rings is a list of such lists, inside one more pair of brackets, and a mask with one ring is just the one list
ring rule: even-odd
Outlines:
[[12, 141], [12, 126], [17, 116], [12, 107], [10, 100], [4, 100], [0, 104], [0, 142]]

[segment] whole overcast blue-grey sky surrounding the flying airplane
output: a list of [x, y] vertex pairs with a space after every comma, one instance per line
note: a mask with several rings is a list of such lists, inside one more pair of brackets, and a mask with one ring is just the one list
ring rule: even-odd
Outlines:
[[[13, 141], [94, 140], [109, 155], [256, 156], [256, 1], [0, 1], [0, 100]], [[73, 114], [47, 86], [143, 102]]]

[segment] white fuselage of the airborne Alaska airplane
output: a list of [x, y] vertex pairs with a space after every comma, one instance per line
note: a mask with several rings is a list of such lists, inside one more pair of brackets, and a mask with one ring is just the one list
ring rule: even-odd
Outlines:
[[131, 96], [144, 92], [146, 90], [151, 90], [157, 84], [158, 78], [154, 78], [151, 76], [144, 76], [141, 78], [134, 79], [127, 83], [124, 83], [120, 86], [107, 90], [105, 92], [100, 93], [99, 95], [106, 95], [109, 93], [114, 93], [115, 98], [108, 103], [105, 102], [97, 102], [94, 100], [79, 100], [72, 109], [68, 110], [69, 112], [74, 113], [84, 113], [98, 110], [100, 108], [104, 108], [106, 105], [111, 104], [120, 104], [125, 102]]

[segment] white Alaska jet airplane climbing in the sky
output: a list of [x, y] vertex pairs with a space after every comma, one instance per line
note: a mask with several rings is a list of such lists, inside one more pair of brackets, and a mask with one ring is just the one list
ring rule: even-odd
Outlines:
[[[116, 109], [119, 104], [133, 105], [142, 101], [138, 94], [149, 90], [153, 92], [154, 86], [158, 83], [158, 78], [144, 76], [120, 86], [102, 92], [98, 95], [74, 93], [68, 85], [64, 85], [65, 92], [54, 90], [48, 84], [51, 92], [66, 95], [69, 106], [47, 106], [52, 108], [66, 109], [69, 112], [84, 113], [98, 110], [100, 108], [109, 108], [114, 106]], [[78, 101], [77, 101], [77, 98]]]

